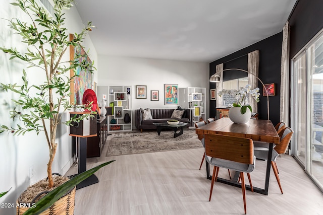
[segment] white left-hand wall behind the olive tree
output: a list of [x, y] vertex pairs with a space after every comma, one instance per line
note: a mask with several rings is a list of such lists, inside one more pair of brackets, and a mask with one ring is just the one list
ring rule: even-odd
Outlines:
[[[20, 41], [19, 35], [13, 34], [8, 27], [8, 21], [12, 17], [21, 17], [23, 21], [27, 21], [28, 17], [22, 14], [18, 7], [9, 4], [11, 1], [2, 1], [0, 7], [0, 46], [17, 47], [18, 50], [24, 51], [26, 47]], [[65, 27], [70, 33], [79, 33], [84, 25], [80, 21], [80, 17], [75, 8], [66, 11]], [[95, 30], [95, 29], [94, 29]], [[97, 62], [97, 53], [95, 48], [87, 36], [83, 45], [85, 49], [90, 49], [90, 58]], [[19, 60], [9, 60], [9, 55], [0, 51], [0, 83], [19, 83], [21, 82], [22, 69], [28, 65]], [[65, 60], [69, 60], [69, 52], [65, 55]], [[95, 64], [97, 67], [97, 64]], [[36, 85], [41, 84], [44, 74], [34, 68], [28, 69], [28, 78], [30, 83]], [[94, 81], [97, 82], [97, 74], [94, 74]], [[17, 99], [11, 92], [0, 92], [0, 123], [10, 125], [12, 121], [9, 117], [9, 111], [14, 108], [12, 99]], [[68, 117], [66, 114], [65, 117]], [[16, 123], [16, 122], [14, 122]], [[65, 174], [70, 168], [73, 155], [71, 137], [69, 136], [69, 128], [61, 126], [58, 128], [58, 150], [53, 163], [53, 172]], [[27, 186], [34, 182], [45, 178], [46, 164], [49, 159], [48, 146], [44, 134], [38, 136], [29, 132], [24, 136], [13, 136], [12, 134], [0, 134], [0, 192], [7, 191], [10, 187], [12, 190], [0, 199], [0, 202], [15, 203], [16, 199]], [[29, 180], [29, 168], [34, 166], [34, 177]], [[15, 208], [0, 207], [0, 214], [15, 214]]]

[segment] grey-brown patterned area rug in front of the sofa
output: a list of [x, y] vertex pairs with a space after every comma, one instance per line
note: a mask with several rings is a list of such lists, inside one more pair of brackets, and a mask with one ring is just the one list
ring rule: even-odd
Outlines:
[[131, 155], [203, 148], [194, 129], [174, 138], [174, 131], [118, 132], [112, 134], [106, 156]]

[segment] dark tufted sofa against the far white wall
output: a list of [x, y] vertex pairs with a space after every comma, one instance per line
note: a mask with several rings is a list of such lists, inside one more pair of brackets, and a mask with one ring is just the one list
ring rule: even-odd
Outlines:
[[[152, 123], [155, 122], [167, 122], [167, 120], [172, 119], [172, 113], [176, 109], [150, 109], [151, 116], [153, 119], [142, 120], [142, 113], [140, 109], [135, 110], [135, 125], [137, 129], [156, 129]], [[173, 118], [174, 119], [174, 118]], [[187, 122], [186, 127], [191, 125], [191, 110], [185, 109], [184, 114], [181, 119], [177, 119], [180, 122]]]

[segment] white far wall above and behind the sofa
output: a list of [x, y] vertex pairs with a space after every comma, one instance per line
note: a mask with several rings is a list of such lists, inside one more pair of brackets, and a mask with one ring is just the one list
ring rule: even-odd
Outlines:
[[[178, 84], [179, 88], [205, 87], [206, 98], [209, 98], [208, 63], [107, 55], [98, 55], [98, 61], [98, 86], [132, 86], [132, 110], [140, 107], [177, 108], [164, 104], [164, 84]], [[147, 99], [136, 99], [136, 85], [147, 86]], [[159, 101], [150, 101], [151, 90], [159, 90]], [[101, 94], [98, 92], [99, 101]]]

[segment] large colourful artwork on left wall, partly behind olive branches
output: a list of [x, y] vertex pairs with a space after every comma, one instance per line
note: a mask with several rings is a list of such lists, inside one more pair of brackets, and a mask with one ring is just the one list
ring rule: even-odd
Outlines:
[[[70, 40], [73, 38], [74, 35], [70, 34]], [[70, 46], [70, 56], [70, 60], [73, 60], [75, 56], [80, 56], [78, 58], [79, 62], [86, 61], [90, 65], [86, 70], [83, 70], [81, 67], [70, 70], [70, 77], [74, 77], [70, 84], [70, 103], [80, 105], [82, 104], [84, 91], [92, 89], [92, 61], [80, 45]]]

